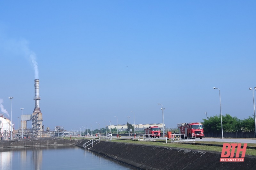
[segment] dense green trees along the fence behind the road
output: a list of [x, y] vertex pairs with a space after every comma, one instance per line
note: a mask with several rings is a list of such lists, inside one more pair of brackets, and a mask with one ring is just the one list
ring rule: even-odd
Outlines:
[[[203, 119], [204, 132], [220, 132], [221, 131], [221, 118], [220, 115], [215, 115]], [[236, 116], [232, 117], [229, 114], [222, 115], [223, 132], [229, 131], [255, 131], [254, 115], [247, 119], [238, 119]]]

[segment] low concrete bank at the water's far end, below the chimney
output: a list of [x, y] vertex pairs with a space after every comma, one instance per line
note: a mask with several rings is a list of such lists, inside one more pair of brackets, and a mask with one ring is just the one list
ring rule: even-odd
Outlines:
[[33, 147], [73, 144], [75, 140], [56, 138], [13, 139], [0, 142], [0, 148]]

